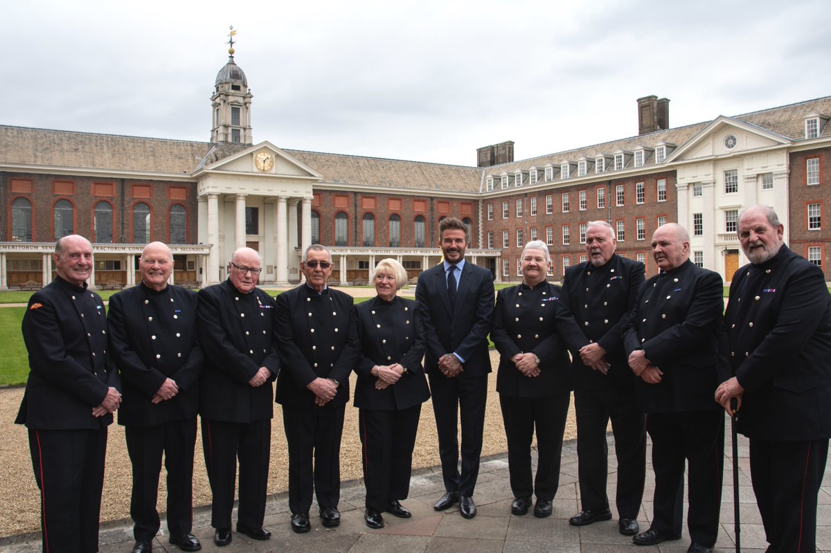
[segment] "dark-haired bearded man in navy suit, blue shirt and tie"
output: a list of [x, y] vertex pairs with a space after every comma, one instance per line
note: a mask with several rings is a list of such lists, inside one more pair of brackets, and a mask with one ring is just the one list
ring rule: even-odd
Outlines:
[[[460, 503], [461, 515], [476, 516], [473, 492], [482, 453], [484, 407], [488, 394], [490, 355], [487, 336], [494, 312], [494, 277], [465, 262], [469, 236], [465, 223], [444, 218], [439, 223], [445, 260], [422, 272], [416, 301], [425, 332], [425, 371], [433, 394], [445, 495], [436, 511]], [[457, 413], [461, 413], [461, 472]]]

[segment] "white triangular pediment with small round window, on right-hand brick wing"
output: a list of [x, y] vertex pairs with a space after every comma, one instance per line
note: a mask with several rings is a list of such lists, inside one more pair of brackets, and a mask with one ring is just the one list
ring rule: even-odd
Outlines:
[[787, 136], [770, 132], [745, 121], [719, 115], [700, 133], [666, 158], [666, 162], [708, 159], [766, 149], [792, 142]]

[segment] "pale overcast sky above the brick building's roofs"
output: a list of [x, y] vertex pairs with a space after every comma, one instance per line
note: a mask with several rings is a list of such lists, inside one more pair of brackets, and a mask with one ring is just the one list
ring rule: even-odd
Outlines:
[[671, 126], [831, 95], [831, 4], [655, 0], [0, 3], [0, 124], [210, 138], [235, 61], [253, 139], [475, 165], [637, 135], [636, 99]]

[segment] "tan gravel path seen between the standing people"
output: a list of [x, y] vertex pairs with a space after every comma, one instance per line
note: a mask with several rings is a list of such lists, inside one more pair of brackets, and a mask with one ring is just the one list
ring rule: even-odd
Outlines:
[[[494, 368], [499, 355], [491, 351]], [[355, 375], [352, 374], [354, 389]], [[502, 415], [499, 411], [499, 395], [496, 389], [496, 373], [490, 374], [488, 407], [485, 414], [484, 448], [482, 455], [504, 453], [505, 443]], [[13, 423], [20, 406], [23, 390], [0, 389], [0, 537], [39, 531], [39, 493], [32, 474], [26, 428]], [[283, 416], [277, 405], [274, 409], [271, 438], [271, 466], [268, 477], [268, 492], [284, 492], [288, 489], [288, 456], [286, 438], [283, 433]], [[341, 477], [352, 480], [361, 477], [361, 442], [357, 429], [358, 412], [347, 406], [346, 421], [341, 445]], [[574, 422], [573, 406], [569, 409], [565, 438], [574, 438], [577, 427]], [[421, 420], [416, 451], [413, 453], [413, 467], [433, 467], [439, 464], [439, 447], [435, 436], [435, 418], [430, 401], [421, 409]], [[164, 469], [163, 469], [164, 472]], [[161, 478], [159, 511], [165, 510], [165, 483]], [[113, 424], [110, 427], [107, 448], [104, 495], [101, 500], [101, 521], [125, 520], [130, 517], [130, 460], [124, 441], [124, 427]], [[197, 433], [194, 455], [194, 506], [210, 503], [208, 476], [204, 468], [202, 442]]]

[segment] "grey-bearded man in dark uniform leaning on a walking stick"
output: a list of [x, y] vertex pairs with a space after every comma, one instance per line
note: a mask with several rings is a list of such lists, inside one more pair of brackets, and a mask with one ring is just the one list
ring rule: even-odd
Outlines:
[[739, 216], [750, 264], [735, 272], [715, 400], [738, 400], [768, 551], [814, 551], [831, 435], [831, 296], [822, 269], [789, 250], [773, 209]]

